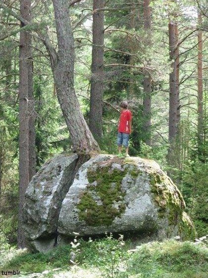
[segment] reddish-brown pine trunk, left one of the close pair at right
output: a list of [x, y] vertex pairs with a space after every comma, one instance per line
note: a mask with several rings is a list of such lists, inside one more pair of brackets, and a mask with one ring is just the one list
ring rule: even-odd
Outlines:
[[169, 75], [169, 125], [168, 125], [168, 140], [171, 144], [176, 136], [177, 131], [177, 66], [176, 66], [176, 38], [175, 24], [168, 24], [169, 30], [169, 51], [171, 63], [171, 73]]

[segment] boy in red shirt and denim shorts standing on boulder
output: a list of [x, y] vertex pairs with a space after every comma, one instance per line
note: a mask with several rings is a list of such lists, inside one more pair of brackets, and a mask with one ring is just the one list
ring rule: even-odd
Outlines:
[[126, 157], [129, 157], [129, 134], [131, 133], [132, 114], [128, 110], [128, 103], [122, 101], [120, 104], [121, 115], [118, 123], [118, 157], [121, 157], [122, 145], [126, 149]]

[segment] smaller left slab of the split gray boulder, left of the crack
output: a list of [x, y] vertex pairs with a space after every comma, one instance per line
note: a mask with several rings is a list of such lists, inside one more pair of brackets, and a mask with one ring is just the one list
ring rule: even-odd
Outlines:
[[77, 159], [76, 154], [50, 159], [26, 190], [24, 231], [36, 250], [46, 251], [54, 244], [61, 204], [73, 182]]

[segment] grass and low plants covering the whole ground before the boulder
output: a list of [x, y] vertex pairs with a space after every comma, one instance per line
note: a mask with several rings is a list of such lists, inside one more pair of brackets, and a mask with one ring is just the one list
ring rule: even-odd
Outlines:
[[[22, 277], [28, 278], [32, 273], [42, 273], [38, 276], [41, 278], [74, 275], [79, 278], [208, 277], [208, 248], [202, 243], [166, 240], [142, 244], [131, 250], [131, 242], [111, 235], [89, 241], [80, 239], [78, 243], [58, 246], [47, 254], [13, 250], [9, 256], [11, 251], [7, 250], [7, 259], [3, 264], [1, 261], [0, 272], [16, 269], [21, 271]], [[69, 261], [72, 249], [77, 254], [75, 265]]]

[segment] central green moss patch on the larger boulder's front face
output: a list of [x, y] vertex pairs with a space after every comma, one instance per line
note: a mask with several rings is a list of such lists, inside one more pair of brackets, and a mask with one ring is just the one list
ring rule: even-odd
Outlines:
[[[111, 164], [88, 169], [89, 185], [83, 196], [80, 196], [77, 205], [79, 220], [86, 221], [90, 226], [109, 226], [115, 217], [119, 217], [125, 211], [126, 205], [123, 202], [125, 192], [121, 189], [121, 181], [127, 171], [127, 168], [111, 169]], [[95, 200], [94, 194], [100, 204]], [[118, 203], [118, 208], [113, 206], [115, 202]]]

